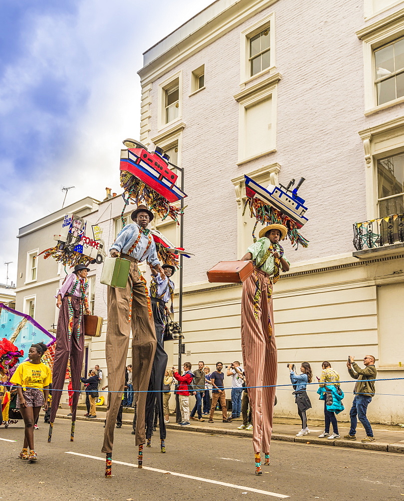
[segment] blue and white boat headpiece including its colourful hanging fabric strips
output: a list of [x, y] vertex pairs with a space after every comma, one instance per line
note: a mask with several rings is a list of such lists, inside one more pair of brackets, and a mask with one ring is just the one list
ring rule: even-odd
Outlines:
[[305, 200], [297, 195], [297, 190], [304, 181], [304, 177], [300, 178], [297, 185], [294, 186], [295, 180], [292, 179], [287, 187], [277, 184], [269, 184], [266, 188], [255, 182], [250, 177], [244, 175], [245, 192], [247, 200], [245, 202], [243, 215], [247, 208], [250, 208], [250, 216], [256, 218], [252, 235], [256, 241], [254, 231], [259, 223], [268, 224], [283, 224], [287, 227], [287, 235], [292, 245], [302, 245], [307, 247], [308, 240], [299, 232], [299, 229], [308, 221], [305, 216], [307, 207], [304, 205]]

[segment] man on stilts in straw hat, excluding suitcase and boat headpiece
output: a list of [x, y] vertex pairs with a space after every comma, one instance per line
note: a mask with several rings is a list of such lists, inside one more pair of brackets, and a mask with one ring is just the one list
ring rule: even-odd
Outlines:
[[282, 224], [270, 224], [247, 249], [241, 261], [252, 260], [254, 271], [243, 281], [241, 300], [241, 348], [253, 414], [255, 474], [262, 474], [261, 452], [269, 464], [273, 407], [277, 379], [277, 350], [274, 336], [272, 289], [280, 269], [289, 271], [279, 244], [287, 235]]

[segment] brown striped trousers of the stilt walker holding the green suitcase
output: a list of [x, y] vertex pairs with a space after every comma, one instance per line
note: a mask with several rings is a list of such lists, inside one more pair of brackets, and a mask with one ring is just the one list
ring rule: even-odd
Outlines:
[[[126, 289], [108, 287], [108, 326], [105, 354], [108, 370], [107, 419], [102, 452], [112, 452], [114, 427], [125, 386], [125, 368], [132, 328], [132, 378], [137, 405], [136, 445], [146, 442], [145, 407], [150, 373], [156, 351], [153, 316], [149, 317], [144, 282], [137, 262], [131, 266]], [[131, 304], [132, 297], [132, 304]], [[129, 320], [130, 312], [132, 318]]]

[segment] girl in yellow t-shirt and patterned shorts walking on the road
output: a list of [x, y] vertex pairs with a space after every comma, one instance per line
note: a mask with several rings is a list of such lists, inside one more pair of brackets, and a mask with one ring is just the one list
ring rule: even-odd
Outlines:
[[38, 459], [34, 450], [34, 423], [41, 407], [48, 408], [49, 383], [52, 382], [51, 369], [41, 362], [48, 350], [45, 343], [33, 344], [28, 352], [29, 360], [17, 367], [10, 382], [17, 386], [16, 407], [20, 409], [25, 424], [22, 459], [34, 462]]

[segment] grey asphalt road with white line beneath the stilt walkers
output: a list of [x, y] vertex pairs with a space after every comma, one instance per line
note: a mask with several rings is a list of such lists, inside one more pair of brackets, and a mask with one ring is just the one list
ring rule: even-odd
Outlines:
[[160, 453], [157, 432], [152, 447], [144, 448], [145, 467], [139, 469], [132, 428], [124, 425], [115, 430], [113, 461], [127, 464], [113, 462], [113, 477], [106, 479], [105, 455], [100, 452], [102, 423], [78, 421], [75, 441], [70, 442], [70, 422], [57, 419], [52, 443], [48, 444], [48, 425], [41, 421], [40, 429], [35, 431], [39, 460], [34, 464], [17, 457], [23, 442], [22, 423], [7, 430], [0, 428], [3, 484], [0, 499], [404, 499], [402, 454], [273, 441], [271, 465], [263, 466], [264, 473], [255, 476], [251, 439], [181, 429], [168, 431], [166, 454]]

